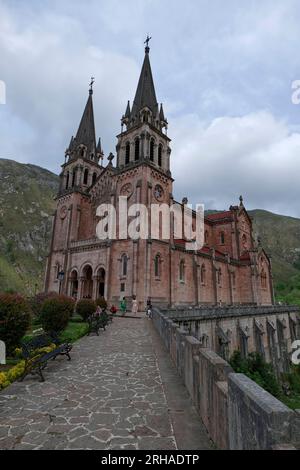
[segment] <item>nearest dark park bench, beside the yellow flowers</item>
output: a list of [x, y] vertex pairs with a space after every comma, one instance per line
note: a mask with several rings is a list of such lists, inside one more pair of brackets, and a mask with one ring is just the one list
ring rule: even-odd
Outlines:
[[[55, 344], [55, 349], [50, 352], [37, 353], [34, 351], [45, 348], [50, 344]], [[43, 334], [33, 337], [30, 341], [22, 342], [22, 356], [25, 360], [25, 370], [20, 379], [23, 381], [28, 374], [38, 374], [40, 381], [44, 382], [43, 370], [48, 364], [48, 361], [55, 360], [57, 356], [67, 356], [71, 360], [70, 351], [72, 345], [69, 343], [60, 344], [57, 333]]]

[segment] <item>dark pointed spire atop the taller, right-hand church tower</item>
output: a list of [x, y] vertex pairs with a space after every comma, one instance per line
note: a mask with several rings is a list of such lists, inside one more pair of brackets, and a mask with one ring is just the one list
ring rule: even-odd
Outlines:
[[151, 65], [149, 60], [148, 44], [145, 48], [145, 58], [136, 90], [131, 116], [135, 116], [139, 111], [147, 106], [155, 116], [158, 109], [158, 103], [155, 94], [154, 82], [152, 77]]

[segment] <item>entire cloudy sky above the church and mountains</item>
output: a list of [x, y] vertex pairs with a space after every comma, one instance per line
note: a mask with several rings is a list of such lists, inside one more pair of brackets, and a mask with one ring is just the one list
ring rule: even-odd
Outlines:
[[114, 152], [149, 32], [177, 199], [300, 217], [299, 24], [299, 0], [0, 0], [0, 157], [58, 173], [91, 76]]

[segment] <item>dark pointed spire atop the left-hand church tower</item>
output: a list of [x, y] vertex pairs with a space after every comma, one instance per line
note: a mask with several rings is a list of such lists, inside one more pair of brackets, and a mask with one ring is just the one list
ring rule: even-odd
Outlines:
[[95, 121], [94, 121], [94, 109], [93, 109], [93, 88], [92, 84], [89, 89], [89, 97], [81, 118], [79, 128], [75, 137], [76, 145], [85, 145], [87, 148], [86, 155], [89, 157], [91, 153], [95, 153], [96, 149], [96, 132], [95, 132]]

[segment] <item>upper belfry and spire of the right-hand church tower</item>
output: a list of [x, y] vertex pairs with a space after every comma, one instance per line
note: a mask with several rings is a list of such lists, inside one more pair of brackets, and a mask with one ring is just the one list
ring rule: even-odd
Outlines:
[[149, 59], [149, 38], [135, 98], [128, 101], [117, 136], [117, 168], [127, 170], [147, 163], [167, 176], [170, 172], [170, 139], [163, 105], [158, 104]]

